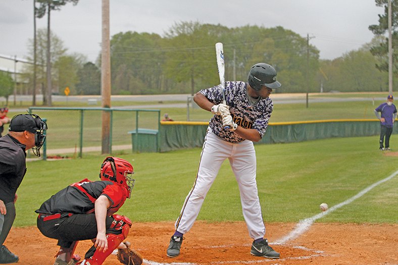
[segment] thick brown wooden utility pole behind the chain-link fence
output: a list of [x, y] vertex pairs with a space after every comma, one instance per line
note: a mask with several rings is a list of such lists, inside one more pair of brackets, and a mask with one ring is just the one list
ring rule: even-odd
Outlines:
[[[109, 34], [109, 0], [102, 0], [101, 94], [103, 108], [111, 108], [111, 44]], [[102, 111], [103, 154], [111, 152], [110, 123], [111, 112]]]

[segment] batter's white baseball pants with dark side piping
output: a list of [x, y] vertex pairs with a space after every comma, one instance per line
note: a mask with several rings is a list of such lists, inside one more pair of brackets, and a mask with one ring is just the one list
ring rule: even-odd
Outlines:
[[203, 144], [201, 161], [192, 189], [182, 206], [175, 228], [185, 234], [201, 210], [206, 194], [228, 158], [239, 186], [240, 201], [247, 230], [253, 239], [263, 238], [265, 225], [256, 183], [256, 151], [252, 141], [230, 143], [215, 135], [210, 127]]

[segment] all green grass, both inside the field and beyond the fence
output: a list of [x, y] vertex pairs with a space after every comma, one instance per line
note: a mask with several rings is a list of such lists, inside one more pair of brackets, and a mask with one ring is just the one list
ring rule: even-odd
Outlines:
[[[319, 95], [314, 95], [319, 96]], [[334, 97], [335, 94], [322, 96]], [[343, 97], [380, 97], [384, 94], [345, 94]], [[270, 122], [328, 119], [374, 119], [373, 110], [383, 101], [351, 101], [305, 104], [275, 104]], [[143, 102], [140, 102], [143, 103]], [[140, 103], [118, 102], [114, 107]], [[145, 102], [145, 104], [154, 102]], [[23, 104], [22, 104], [23, 105]], [[26, 106], [28, 102], [26, 102]], [[18, 107], [18, 106], [17, 106]], [[88, 107], [60, 104], [57, 107]], [[176, 121], [186, 121], [186, 109], [161, 108]], [[191, 109], [193, 120], [209, 120], [209, 112]], [[37, 111], [47, 119], [47, 148], [78, 146], [78, 111]], [[13, 116], [13, 107], [10, 115]], [[142, 126], [157, 123], [151, 113], [140, 114]], [[114, 114], [113, 144], [131, 144], [127, 131], [135, 127], [133, 113]], [[7, 129], [7, 126], [6, 126]], [[84, 113], [83, 146], [101, 145], [101, 112]], [[398, 150], [398, 136], [391, 136]], [[300, 143], [256, 145], [257, 183], [265, 222], [298, 222], [320, 212], [319, 204], [336, 205], [398, 170], [395, 156], [378, 150], [378, 136], [331, 138]], [[114, 153], [134, 166], [136, 186], [120, 213], [135, 222], [174, 221], [193, 185], [201, 148], [166, 153]], [[35, 225], [34, 210], [58, 190], [89, 178], [98, 180], [105, 155], [85, 153], [83, 158], [27, 163], [19, 190], [16, 226]], [[397, 223], [398, 176], [317, 222]], [[239, 191], [226, 161], [204, 202], [198, 220], [243, 221]]]

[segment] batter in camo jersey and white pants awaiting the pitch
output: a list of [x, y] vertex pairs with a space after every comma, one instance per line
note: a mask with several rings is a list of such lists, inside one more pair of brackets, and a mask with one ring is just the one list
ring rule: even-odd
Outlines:
[[[201, 210], [203, 201], [213, 184], [221, 164], [228, 158], [238, 182], [243, 217], [249, 235], [254, 239], [251, 254], [279, 258], [279, 253], [268, 245], [256, 183], [256, 152], [253, 142], [261, 140], [273, 110], [269, 98], [272, 89], [281, 84], [275, 69], [264, 63], [254, 65], [248, 82], [226, 82], [226, 105], [222, 104], [221, 85], [203, 89], [193, 100], [214, 117], [203, 144], [199, 169], [193, 187], [182, 206], [170, 239], [167, 255], [180, 254], [183, 235], [189, 231]], [[229, 130], [224, 127], [229, 126]]]

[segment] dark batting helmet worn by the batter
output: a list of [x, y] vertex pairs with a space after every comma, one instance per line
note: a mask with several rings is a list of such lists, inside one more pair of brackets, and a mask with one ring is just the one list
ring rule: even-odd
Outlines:
[[281, 83], [276, 81], [275, 69], [264, 63], [252, 66], [247, 76], [247, 82], [256, 91], [260, 91], [262, 86], [272, 89], [281, 87]]

